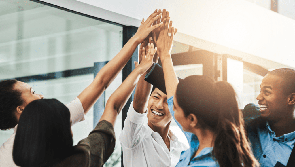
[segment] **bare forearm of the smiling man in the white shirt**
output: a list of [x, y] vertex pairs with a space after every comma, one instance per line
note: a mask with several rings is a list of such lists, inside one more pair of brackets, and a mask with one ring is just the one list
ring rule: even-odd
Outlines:
[[139, 78], [133, 100], [133, 108], [136, 112], [141, 114], [146, 112], [146, 108], [148, 107], [148, 99], [152, 90], [151, 84], [146, 82], [144, 79], [145, 75], [142, 75]]

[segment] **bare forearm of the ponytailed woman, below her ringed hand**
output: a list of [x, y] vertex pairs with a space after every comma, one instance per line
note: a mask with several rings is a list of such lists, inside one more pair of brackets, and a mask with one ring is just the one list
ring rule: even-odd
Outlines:
[[170, 98], [175, 94], [179, 81], [173, 67], [171, 55], [166, 54], [162, 59], [161, 62], [163, 66], [167, 97]]

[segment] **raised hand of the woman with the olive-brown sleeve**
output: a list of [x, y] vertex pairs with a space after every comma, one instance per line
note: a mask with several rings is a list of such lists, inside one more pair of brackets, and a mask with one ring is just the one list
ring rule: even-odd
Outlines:
[[142, 48], [140, 64], [136, 61], [134, 62], [135, 68], [138, 68], [141, 74], [145, 73], [153, 65], [153, 58], [156, 51], [157, 47], [154, 48], [153, 43], [149, 43], [148, 48]]

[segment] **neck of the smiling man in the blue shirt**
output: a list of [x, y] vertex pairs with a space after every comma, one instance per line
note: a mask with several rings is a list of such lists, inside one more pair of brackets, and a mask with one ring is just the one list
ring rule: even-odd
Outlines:
[[276, 133], [276, 137], [280, 137], [284, 134], [291, 133], [295, 131], [295, 117], [294, 112], [292, 115], [286, 114], [285, 117], [279, 121], [268, 120], [271, 130]]

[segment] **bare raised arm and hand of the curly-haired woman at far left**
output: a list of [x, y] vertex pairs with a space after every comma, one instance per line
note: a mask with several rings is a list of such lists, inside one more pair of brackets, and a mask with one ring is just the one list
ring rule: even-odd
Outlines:
[[155, 10], [155, 12], [153, 12], [153, 14], [151, 14], [146, 21], [142, 19], [140, 27], [135, 35], [124, 45], [120, 52], [111, 61], [109, 61], [109, 63], [101, 68], [94, 78], [94, 81], [86, 89], [84, 89], [81, 94], [79, 94], [78, 98], [82, 103], [85, 114], [126, 65], [136, 47], [152, 30], [162, 25], [157, 24], [152, 26], [153, 22], [161, 17], [161, 14], [161, 10]]

